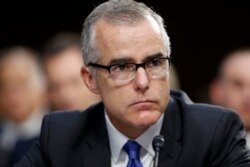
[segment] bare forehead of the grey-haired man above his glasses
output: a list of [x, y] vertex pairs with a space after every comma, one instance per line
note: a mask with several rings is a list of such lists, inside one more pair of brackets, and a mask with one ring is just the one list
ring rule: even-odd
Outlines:
[[165, 52], [160, 28], [154, 19], [145, 19], [132, 25], [99, 20], [96, 24], [96, 42], [100, 60], [104, 63], [116, 58], [136, 61]]

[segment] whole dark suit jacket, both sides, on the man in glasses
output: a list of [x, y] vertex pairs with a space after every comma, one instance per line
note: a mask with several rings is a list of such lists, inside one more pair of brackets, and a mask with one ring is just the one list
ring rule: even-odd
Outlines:
[[[172, 91], [161, 134], [160, 167], [250, 167], [238, 117], [225, 108], [194, 104]], [[104, 106], [44, 118], [40, 142], [15, 167], [109, 167]]]

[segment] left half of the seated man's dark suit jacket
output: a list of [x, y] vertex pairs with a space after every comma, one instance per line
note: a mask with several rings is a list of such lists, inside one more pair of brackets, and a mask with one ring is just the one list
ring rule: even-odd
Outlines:
[[84, 112], [46, 115], [40, 142], [35, 144], [19, 165], [110, 166], [109, 140], [103, 111], [103, 104], [99, 103]]

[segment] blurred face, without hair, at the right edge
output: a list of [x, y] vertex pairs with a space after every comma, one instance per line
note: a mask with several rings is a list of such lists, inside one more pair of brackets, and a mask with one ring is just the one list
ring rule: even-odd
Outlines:
[[236, 110], [250, 129], [250, 53], [231, 58], [224, 68], [224, 106]]

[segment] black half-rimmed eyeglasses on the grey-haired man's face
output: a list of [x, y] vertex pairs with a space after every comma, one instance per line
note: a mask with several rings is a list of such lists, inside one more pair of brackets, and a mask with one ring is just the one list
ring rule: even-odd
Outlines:
[[109, 72], [109, 77], [117, 84], [126, 84], [131, 81], [139, 67], [146, 70], [148, 76], [152, 79], [160, 79], [166, 76], [169, 65], [170, 57], [158, 57], [147, 60], [143, 63], [120, 63], [105, 66], [101, 64], [89, 63], [88, 66], [105, 69]]

